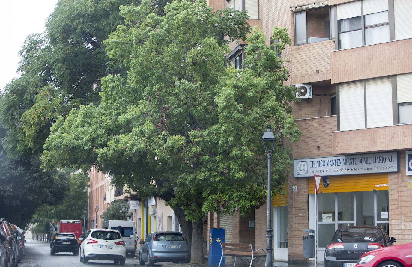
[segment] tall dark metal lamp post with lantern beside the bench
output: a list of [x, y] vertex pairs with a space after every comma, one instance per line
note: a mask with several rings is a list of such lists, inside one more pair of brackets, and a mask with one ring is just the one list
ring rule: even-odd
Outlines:
[[270, 158], [272, 156], [273, 149], [275, 148], [275, 140], [272, 133], [271, 127], [267, 127], [267, 130], [263, 134], [262, 138], [263, 146], [267, 153], [267, 228], [266, 228], [266, 262], [265, 267], [273, 267], [273, 258], [272, 258], [272, 238], [273, 238], [273, 229], [272, 229], [272, 185], [271, 185], [271, 174], [270, 174]]

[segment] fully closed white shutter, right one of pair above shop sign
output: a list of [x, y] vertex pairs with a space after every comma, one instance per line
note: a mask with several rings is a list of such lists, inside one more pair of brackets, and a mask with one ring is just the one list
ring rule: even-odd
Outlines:
[[366, 81], [366, 127], [393, 125], [391, 78]]

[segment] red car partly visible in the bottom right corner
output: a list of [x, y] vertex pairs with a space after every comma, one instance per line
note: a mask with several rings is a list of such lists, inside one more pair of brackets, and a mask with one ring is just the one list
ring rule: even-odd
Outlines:
[[369, 251], [361, 256], [355, 267], [411, 267], [412, 242]]

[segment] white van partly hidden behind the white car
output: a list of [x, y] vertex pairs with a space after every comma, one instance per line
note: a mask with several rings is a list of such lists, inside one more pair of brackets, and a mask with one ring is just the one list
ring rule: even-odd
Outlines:
[[126, 255], [130, 253], [132, 256], [136, 254], [137, 248], [137, 232], [136, 225], [133, 221], [127, 220], [107, 220], [102, 224], [102, 228], [115, 229], [122, 234], [122, 239], [126, 245]]

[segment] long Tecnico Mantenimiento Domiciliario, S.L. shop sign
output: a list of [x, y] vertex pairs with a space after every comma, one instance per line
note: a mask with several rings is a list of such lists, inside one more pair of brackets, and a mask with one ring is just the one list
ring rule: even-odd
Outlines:
[[399, 153], [387, 152], [311, 159], [294, 159], [293, 170], [295, 177], [310, 177], [314, 174], [327, 176], [396, 172], [399, 171]]

